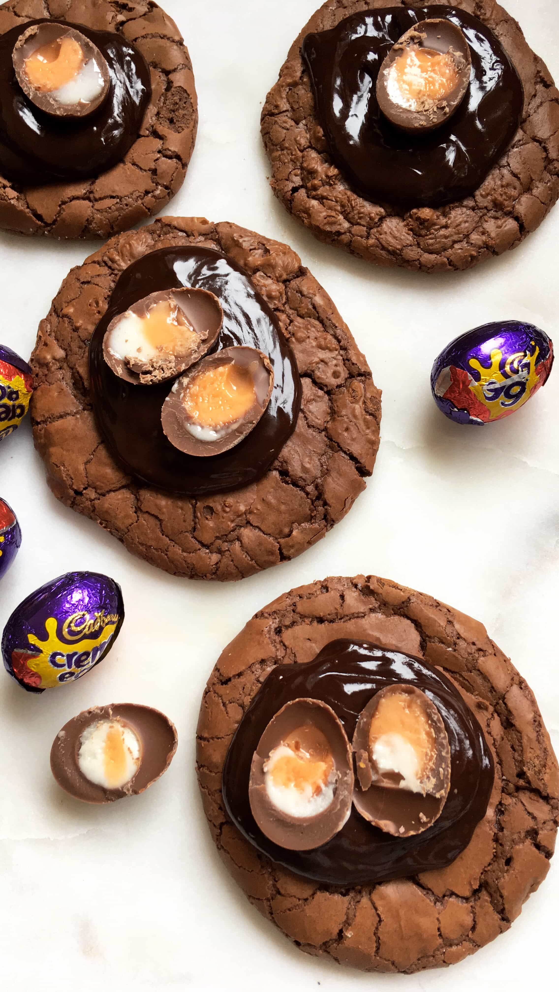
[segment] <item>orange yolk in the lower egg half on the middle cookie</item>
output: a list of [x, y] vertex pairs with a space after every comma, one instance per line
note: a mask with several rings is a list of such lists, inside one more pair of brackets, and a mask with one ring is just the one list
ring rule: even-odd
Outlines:
[[200, 427], [235, 424], [256, 402], [252, 375], [234, 362], [214, 365], [192, 380], [183, 402], [189, 417]]

